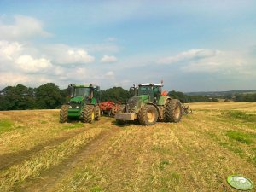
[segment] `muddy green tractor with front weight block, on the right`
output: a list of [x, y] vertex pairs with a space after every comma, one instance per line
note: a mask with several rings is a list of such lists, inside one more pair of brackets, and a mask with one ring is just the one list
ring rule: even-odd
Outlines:
[[119, 108], [115, 119], [117, 123], [138, 120], [140, 125], [154, 125], [157, 120], [177, 123], [182, 118], [181, 103], [161, 92], [162, 84], [133, 85], [133, 95]]

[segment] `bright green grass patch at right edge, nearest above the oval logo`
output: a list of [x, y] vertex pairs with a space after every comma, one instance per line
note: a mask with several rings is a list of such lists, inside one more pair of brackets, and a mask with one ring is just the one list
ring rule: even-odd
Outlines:
[[229, 137], [230, 139], [236, 140], [237, 142], [246, 144], [253, 143], [253, 138], [256, 137], [255, 134], [248, 134], [245, 132], [233, 130], [227, 131], [226, 136]]

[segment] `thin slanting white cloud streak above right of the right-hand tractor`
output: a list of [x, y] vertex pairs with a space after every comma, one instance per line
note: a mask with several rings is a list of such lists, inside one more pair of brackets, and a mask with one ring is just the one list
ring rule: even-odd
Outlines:
[[219, 50], [212, 50], [212, 49], [190, 49], [174, 56], [160, 58], [159, 61], [157, 61], [157, 63], [172, 64], [172, 63], [177, 63], [181, 61], [201, 60], [203, 58], [218, 55], [219, 53], [220, 53]]

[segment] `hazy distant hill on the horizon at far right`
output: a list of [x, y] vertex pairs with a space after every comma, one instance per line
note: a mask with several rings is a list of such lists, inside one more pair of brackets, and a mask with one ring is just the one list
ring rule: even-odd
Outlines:
[[201, 92], [188, 92], [188, 96], [227, 96], [235, 94], [256, 93], [256, 90], [227, 90], [227, 91], [201, 91]]

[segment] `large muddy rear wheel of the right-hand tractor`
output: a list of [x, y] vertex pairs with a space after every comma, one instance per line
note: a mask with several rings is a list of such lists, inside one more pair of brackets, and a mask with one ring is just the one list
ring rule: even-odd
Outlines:
[[177, 99], [167, 101], [166, 104], [166, 122], [177, 123], [182, 119], [183, 109]]

